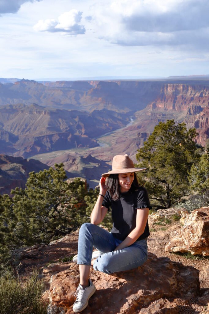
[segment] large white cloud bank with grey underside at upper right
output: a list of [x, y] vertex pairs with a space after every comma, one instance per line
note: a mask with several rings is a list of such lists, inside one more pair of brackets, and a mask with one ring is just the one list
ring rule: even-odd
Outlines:
[[209, 46], [208, 0], [114, 0], [94, 11], [98, 38], [113, 44], [199, 51]]

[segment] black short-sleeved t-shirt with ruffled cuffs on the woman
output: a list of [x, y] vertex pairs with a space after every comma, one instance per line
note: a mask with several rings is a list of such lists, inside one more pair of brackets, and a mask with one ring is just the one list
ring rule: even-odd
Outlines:
[[[130, 190], [120, 193], [120, 199], [113, 201], [107, 191], [102, 202], [102, 206], [112, 208], [112, 230], [111, 233], [119, 240], [124, 240], [136, 227], [137, 208], [152, 208], [149, 204], [149, 197], [145, 187], [138, 187], [134, 192]], [[137, 240], [145, 239], [149, 236], [148, 220], [145, 230]], [[136, 241], [137, 241], [136, 240]]]

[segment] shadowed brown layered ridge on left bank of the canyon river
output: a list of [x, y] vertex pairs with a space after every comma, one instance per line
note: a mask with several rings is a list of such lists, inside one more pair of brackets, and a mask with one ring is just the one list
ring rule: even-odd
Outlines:
[[95, 137], [124, 127], [129, 118], [113, 111], [46, 109], [32, 104], [0, 107], [0, 153], [31, 157], [51, 151], [99, 146]]

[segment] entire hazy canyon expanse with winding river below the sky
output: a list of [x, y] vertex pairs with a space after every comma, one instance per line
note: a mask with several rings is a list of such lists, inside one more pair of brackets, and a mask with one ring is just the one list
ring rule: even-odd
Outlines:
[[[154, 127], [167, 119], [195, 127], [196, 142], [202, 146], [209, 137], [207, 77], [0, 82], [0, 154], [45, 154], [35, 158], [47, 165], [58, 158], [72, 174], [85, 176], [79, 156], [85, 162], [89, 155], [96, 158], [91, 168], [95, 173], [101, 170], [96, 164], [103, 161], [108, 167], [114, 154], [128, 153], [135, 159]], [[90, 161], [84, 168], [89, 166]]]

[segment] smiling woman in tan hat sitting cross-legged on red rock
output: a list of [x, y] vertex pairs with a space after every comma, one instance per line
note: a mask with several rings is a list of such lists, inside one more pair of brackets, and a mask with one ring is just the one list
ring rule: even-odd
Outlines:
[[[127, 154], [116, 155], [112, 160], [112, 171], [102, 174], [91, 223], [81, 226], [78, 254], [73, 257], [80, 271], [74, 312], [85, 309], [96, 291], [89, 279], [91, 265], [95, 270], [111, 274], [136, 268], [147, 260], [148, 213], [151, 207], [147, 191], [138, 186], [135, 174], [144, 169], [135, 168]], [[98, 225], [110, 207], [113, 226], [108, 232]], [[93, 252], [93, 246], [97, 251]]]

